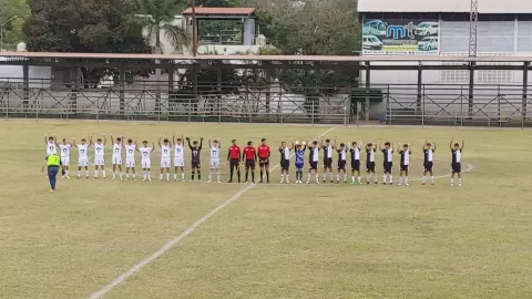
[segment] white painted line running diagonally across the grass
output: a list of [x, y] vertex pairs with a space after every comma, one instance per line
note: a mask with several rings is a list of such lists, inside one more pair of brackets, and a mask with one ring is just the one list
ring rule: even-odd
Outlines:
[[[328, 133], [330, 133], [332, 130], [335, 130], [336, 127], [330, 127], [329, 130], [325, 131], [321, 135], [318, 136], [319, 137], [323, 137], [325, 135], [327, 135]], [[294, 154], [291, 154], [290, 156], [293, 156]], [[280, 165], [279, 164], [276, 164], [275, 166], [273, 166], [270, 169], [272, 171], [275, 171], [279, 167]], [[181, 233], [178, 236], [176, 236], [175, 238], [173, 238], [172, 240], [167, 241], [165, 245], [163, 245], [163, 247], [161, 247], [158, 250], [156, 250], [155, 252], [153, 252], [151, 256], [144, 258], [143, 260], [141, 260], [139, 264], [136, 264], [135, 266], [133, 266], [131, 269], [129, 269], [127, 271], [123, 272], [122, 275], [120, 275], [119, 277], [116, 277], [113, 281], [111, 281], [111, 283], [106, 285], [105, 287], [103, 287], [102, 289], [100, 289], [99, 291], [94, 292], [93, 295], [91, 295], [91, 299], [99, 299], [99, 298], [102, 298], [103, 296], [105, 296], [108, 292], [110, 292], [111, 290], [113, 290], [115, 287], [117, 287], [119, 285], [121, 285], [122, 282], [126, 281], [130, 277], [132, 277], [133, 275], [135, 275], [137, 271], [140, 271], [142, 268], [146, 267], [147, 265], [152, 264], [153, 261], [155, 261], [157, 258], [160, 258], [162, 255], [164, 255], [165, 252], [167, 252], [170, 249], [172, 249], [174, 246], [176, 246], [181, 240], [183, 240], [184, 238], [186, 238], [188, 235], [191, 235], [192, 233], [194, 233], [194, 230], [196, 230], [196, 228], [202, 225], [203, 223], [205, 223], [206, 220], [208, 220], [213, 215], [215, 215], [216, 213], [218, 213], [221, 209], [225, 208], [226, 206], [228, 206], [231, 203], [235, 202], [236, 199], [238, 199], [239, 197], [242, 197], [245, 193], [247, 193], [248, 190], [255, 188], [256, 185], [249, 185], [247, 187], [245, 187], [244, 189], [237, 192], [235, 195], [233, 195], [229, 199], [225, 200], [224, 203], [222, 203], [221, 205], [218, 205], [217, 207], [215, 207], [213, 210], [211, 210], [209, 213], [205, 214], [205, 216], [203, 216], [202, 218], [200, 218], [198, 220], [196, 220], [193, 225], [191, 225], [188, 228], [186, 228], [183, 233]]]

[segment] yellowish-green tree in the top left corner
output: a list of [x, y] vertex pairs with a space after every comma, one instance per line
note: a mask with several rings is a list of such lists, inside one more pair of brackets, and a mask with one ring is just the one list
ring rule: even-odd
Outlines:
[[3, 25], [3, 49], [16, 49], [23, 41], [22, 25], [30, 16], [30, 8], [25, 0], [0, 0], [0, 24]]

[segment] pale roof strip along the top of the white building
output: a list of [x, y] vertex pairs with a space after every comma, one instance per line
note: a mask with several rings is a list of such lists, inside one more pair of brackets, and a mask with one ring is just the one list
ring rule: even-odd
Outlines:
[[[470, 0], [358, 0], [359, 12], [468, 12]], [[530, 0], [481, 0], [479, 13], [532, 13]]]

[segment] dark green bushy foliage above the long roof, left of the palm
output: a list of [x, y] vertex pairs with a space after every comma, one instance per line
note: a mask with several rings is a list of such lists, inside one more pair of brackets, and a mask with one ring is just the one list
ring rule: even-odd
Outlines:
[[28, 0], [24, 23], [30, 51], [147, 53], [131, 0]]

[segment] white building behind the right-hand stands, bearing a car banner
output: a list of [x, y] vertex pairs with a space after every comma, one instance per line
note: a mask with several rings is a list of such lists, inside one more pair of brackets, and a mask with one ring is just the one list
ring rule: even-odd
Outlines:
[[[477, 55], [531, 56], [532, 1], [478, 2]], [[362, 55], [469, 55], [470, 9], [470, 0], [359, 0]], [[461, 113], [463, 106], [454, 100], [463, 96], [463, 89], [467, 94], [469, 75], [469, 71], [423, 71], [422, 83], [431, 90], [426, 99], [426, 112], [437, 113], [441, 110], [438, 105], [449, 104], [446, 110]], [[362, 72], [362, 82], [365, 78]], [[407, 106], [416, 101], [416, 86], [401, 87], [399, 84], [416, 85], [417, 71], [371, 71], [370, 82], [372, 85], [382, 84], [381, 87], [389, 91], [391, 107]], [[488, 102], [498, 96], [504, 103], [520, 104], [522, 89], [519, 85], [522, 83], [523, 71], [475, 71], [475, 89], [484, 91], [475, 92], [474, 99], [481, 103], [479, 105], [490, 105]], [[430, 84], [447, 85], [436, 87]], [[508, 111], [498, 109], [497, 113], [510, 114], [514, 110], [505, 106]], [[378, 107], [381, 113], [385, 105]]]

